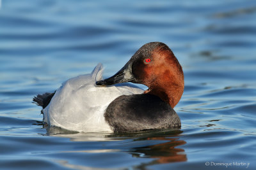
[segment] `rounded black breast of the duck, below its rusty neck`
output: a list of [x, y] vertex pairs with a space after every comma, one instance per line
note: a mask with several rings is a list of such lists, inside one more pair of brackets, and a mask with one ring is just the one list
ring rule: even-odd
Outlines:
[[117, 97], [104, 117], [115, 132], [180, 127], [180, 118], [173, 108], [150, 94]]

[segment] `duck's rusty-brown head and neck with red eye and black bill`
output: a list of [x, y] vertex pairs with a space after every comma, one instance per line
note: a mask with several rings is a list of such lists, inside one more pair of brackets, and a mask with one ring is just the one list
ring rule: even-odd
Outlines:
[[159, 96], [172, 108], [179, 103], [184, 90], [184, 75], [172, 50], [160, 42], [147, 43], [115, 75], [96, 82], [113, 85], [132, 82], [147, 85], [144, 93]]

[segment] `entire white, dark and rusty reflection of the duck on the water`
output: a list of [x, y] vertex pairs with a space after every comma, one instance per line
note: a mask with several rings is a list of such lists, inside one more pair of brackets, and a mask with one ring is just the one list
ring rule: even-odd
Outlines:
[[[148, 159], [147, 163], [141, 164], [141, 166], [145, 167], [153, 164], [186, 161], [187, 156], [185, 150], [182, 149], [182, 145], [186, 144], [186, 141], [180, 140], [181, 133], [182, 131], [180, 130], [155, 130], [132, 134], [77, 133], [63, 131], [63, 129], [56, 127], [48, 127], [45, 135], [70, 138], [71, 141], [103, 141], [104, 143], [106, 142], [104, 144], [106, 145], [104, 152], [106, 150], [108, 152], [127, 152], [132, 157], [151, 158]], [[113, 145], [113, 142], [116, 141], [118, 143]], [[102, 148], [95, 150], [95, 152], [100, 153], [100, 150]], [[80, 152], [92, 153], [93, 150], [81, 150]]]

